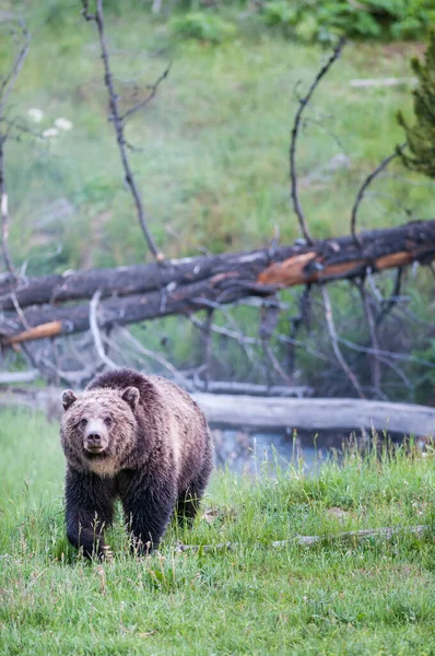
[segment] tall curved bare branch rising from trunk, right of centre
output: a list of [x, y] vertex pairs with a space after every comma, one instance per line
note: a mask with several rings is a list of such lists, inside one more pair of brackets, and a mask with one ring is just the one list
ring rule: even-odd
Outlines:
[[299, 127], [301, 127], [301, 120], [302, 120], [302, 115], [304, 113], [305, 107], [308, 105], [313, 93], [316, 89], [316, 86], [319, 84], [320, 80], [324, 78], [324, 75], [326, 75], [326, 73], [329, 71], [329, 69], [331, 68], [331, 66], [333, 65], [333, 62], [340, 57], [341, 50], [343, 49], [345, 44], [345, 38], [342, 37], [339, 43], [337, 44], [332, 55], [330, 56], [330, 58], [328, 59], [328, 61], [326, 62], [326, 65], [320, 69], [320, 71], [317, 73], [313, 84], [310, 85], [310, 87], [308, 89], [308, 93], [299, 99], [299, 107], [296, 112], [296, 116], [294, 118], [294, 122], [293, 122], [293, 128], [292, 128], [292, 138], [291, 138], [291, 142], [290, 142], [290, 180], [291, 180], [291, 196], [292, 196], [292, 200], [293, 200], [293, 208], [294, 211], [297, 214], [297, 219], [299, 221], [299, 226], [301, 230], [304, 234], [305, 239], [307, 241], [308, 244], [313, 244], [313, 238], [309, 234], [306, 221], [305, 221], [305, 215], [303, 212], [303, 209], [301, 207], [301, 202], [299, 202], [299, 198], [298, 198], [298, 191], [297, 191], [297, 171], [296, 171], [296, 141], [297, 141], [297, 136], [298, 136], [298, 131], [299, 131]]

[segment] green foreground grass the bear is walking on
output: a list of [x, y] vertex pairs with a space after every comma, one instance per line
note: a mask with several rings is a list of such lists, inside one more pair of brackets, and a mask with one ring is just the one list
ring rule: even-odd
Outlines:
[[[433, 454], [350, 450], [307, 478], [215, 472], [191, 531], [172, 525], [158, 554], [134, 559], [120, 518], [110, 563], [67, 544], [58, 430], [2, 411], [0, 654], [433, 654], [433, 535], [267, 544], [296, 534], [433, 524]], [[331, 508], [341, 508], [337, 517]], [[177, 553], [175, 541], [236, 542]]]

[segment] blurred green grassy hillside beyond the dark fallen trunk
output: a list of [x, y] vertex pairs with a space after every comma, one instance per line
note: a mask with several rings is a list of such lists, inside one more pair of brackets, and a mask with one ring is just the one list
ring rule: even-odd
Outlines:
[[[80, 19], [79, 9], [71, 5], [68, 21], [35, 32], [13, 96], [13, 116], [26, 117], [31, 107], [44, 112], [43, 122], [34, 128], [47, 129], [59, 116], [74, 124], [71, 132], [49, 143], [24, 139], [9, 144], [11, 248], [17, 261], [31, 250], [30, 271], [149, 257], [107, 121], [96, 32]], [[173, 60], [157, 97], [127, 128], [128, 140], [143, 149], [131, 159], [160, 247], [168, 256], [180, 256], [201, 247], [222, 251], [262, 246], [275, 226], [284, 243], [298, 236], [289, 201], [294, 89], [298, 81], [299, 92], [307, 89], [322, 50], [267, 32], [216, 47], [174, 40], [167, 25], [132, 9], [108, 14], [106, 22], [125, 108]], [[415, 50], [413, 44], [351, 44], [316, 92], [298, 145], [302, 201], [315, 236], [349, 232], [358, 186], [403, 140], [395, 113], [402, 108], [410, 115], [409, 84], [357, 90], [350, 80], [411, 75], [409, 58]], [[9, 51], [4, 38], [0, 63], [7, 66]], [[350, 169], [328, 172], [328, 162], [340, 152], [350, 156]], [[399, 164], [396, 171], [410, 177]], [[431, 188], [379, 181], [374, 189], [412, 207], [415, 215], [432, 215]], [[71, 202], [73, 214], [44, 221], [47, 207], [59, 198]], [[405, 220], [390, 199], [380, 198], [362, 207], [360, 224], [379, 227]], [[63, 254], [44, 261], [42, 254], [52, 251], [56, 242]], [[90, 245], [92, 254], [86, 255]]]

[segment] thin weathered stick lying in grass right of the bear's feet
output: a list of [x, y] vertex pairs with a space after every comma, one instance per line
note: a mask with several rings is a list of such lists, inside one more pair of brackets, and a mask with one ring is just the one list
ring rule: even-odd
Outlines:
[[[294, 536], [290, 540], [273, 540], [272, 542], [257, 543], [251, 546], [254, 548], [273, 548], [281, 549], [285, 547], [292, 547], [297, 544], [299, 547], [314, 547], [316, 544], [322, 544], [324, 542], [342, 542], [344, 544], [360, 544], [365, 540], [380, 539], [380, 540], [392, 540], [401, 536], [413, 535], [416, 538], [422, 538], [425, 534], [431, 532], [431, 527], [426, 525], [418, 526], [391, 526], [383, 528], [366, 528], [362, 530], [346, 530], [338, 534], [329, 534], [326, 536]], [[217, 544], [183, 544], [178, 542], [176, 551], [196, 553], [201, 552], [213, 552], [213, 551], [233, 551], [242, 544], [239, 542], [217, 542]], [[246, 546], [245, 546], [246, 548]]]

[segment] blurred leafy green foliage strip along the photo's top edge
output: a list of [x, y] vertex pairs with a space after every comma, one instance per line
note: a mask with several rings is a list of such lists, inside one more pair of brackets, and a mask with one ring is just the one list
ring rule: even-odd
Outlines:
[[[149, 20], [151, 4], [150, 0], [104, 0], [106, 14], [117, 17], [136, 11]], [[32, 16], [31, 25], [46, 24], [56, 31], [66, 25], [75, 28], [80, 5], [80, 0], [48, 0], [35, 3], [32, 12], [23, 9]], [[330, 43], [339, 34], [393, 40], [424, 35], [435, 21], [435, 7], [433, 0], [164, 0], [160, 20], [166, 16], [177, 37], [212, 44], [231, 38], [247, 24], [279, 30], [285, 37], [306, 43]]]

